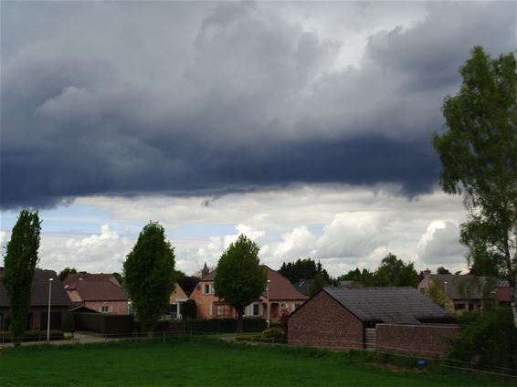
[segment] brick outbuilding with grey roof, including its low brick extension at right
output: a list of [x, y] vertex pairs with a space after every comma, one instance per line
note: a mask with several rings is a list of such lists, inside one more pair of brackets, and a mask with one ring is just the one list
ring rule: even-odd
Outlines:
[[443, 354], [452, 316], [414, 288], [322, 288], [288, 319], [291, 345]]

